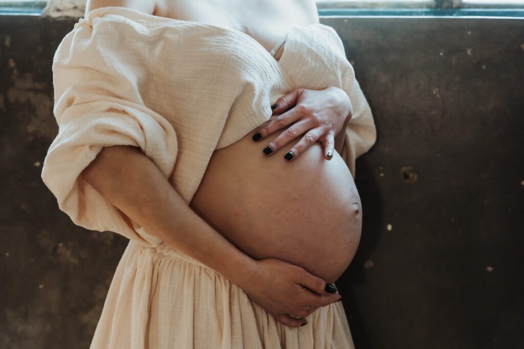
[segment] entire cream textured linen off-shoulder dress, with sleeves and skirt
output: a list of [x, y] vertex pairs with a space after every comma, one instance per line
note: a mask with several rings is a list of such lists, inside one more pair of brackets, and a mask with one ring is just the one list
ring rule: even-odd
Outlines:
[[294, 87], [342, 88], [350, 96], [341, 156], [375, 142], [369, 105], [336, 31], [292, 27], [280, 60], [247, 34], [123, 7], [81, 18], [53, 57], [59, 132], [42, 180], [78, 226], [130, 241], [117, 266], [92, 348], [351, 348], [342, 302], [308, 325], [276, 322], [245, 292], [130, 220], [81, 172], [103, 147], [133, 145], [189, 205], [214, 150], [272, 118], [270, 106]]

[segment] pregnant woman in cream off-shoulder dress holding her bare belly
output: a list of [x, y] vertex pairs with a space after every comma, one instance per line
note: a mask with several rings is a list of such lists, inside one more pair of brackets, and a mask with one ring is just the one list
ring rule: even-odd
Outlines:
[[375, 125], [314, 0], [90, 1], [43, 182], [129, 238], [92, 348], [351, 348], [334, 283]]

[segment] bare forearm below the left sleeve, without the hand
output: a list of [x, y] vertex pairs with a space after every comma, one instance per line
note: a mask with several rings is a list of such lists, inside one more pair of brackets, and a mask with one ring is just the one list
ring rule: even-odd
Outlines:
[[138, 148], [104, 148], [82, 176], [105, 199], [166, 244], [242, 287], [255, 261], [198, 216]]

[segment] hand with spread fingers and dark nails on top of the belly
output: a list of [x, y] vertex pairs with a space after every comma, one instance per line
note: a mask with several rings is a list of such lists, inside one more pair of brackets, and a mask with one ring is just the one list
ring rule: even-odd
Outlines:
[[[297, 159], [316, 141], [323, 144], [325, 159], [332, 159], [335, 136], [342, 129], [346, 118], [353, 115], [350, 97], [344, 90], [335, 86], [321, 90], [294, 88], [280, 97], [276, 105], [273, 114], [281, 115], [256, 130], [253, 140], [264, 140], [270, 134], [287, 127], [277, 138], [266, 144], [266, 147], [272, 148], [271, 153], [305, 133], [284, 156], [288, 161]], [[260, 133], [259, 139], [257, 133]]]

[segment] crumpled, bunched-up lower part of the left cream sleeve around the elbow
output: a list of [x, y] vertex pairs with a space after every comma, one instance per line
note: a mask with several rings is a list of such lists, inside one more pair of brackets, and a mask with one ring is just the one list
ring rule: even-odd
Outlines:
[[167, 178], [176, 161], [177, 134], [168, 120], [151, 109], [104, 93], [95, 84], [74, 85], [54, 108], [59, 123], [43, 162], [41, 178], [78, 226], [113, 231], [145, 245], [161, 240], [146, 232], [108, 202], [80, 175], [103, 149], [132, 145], [151, 159]]

